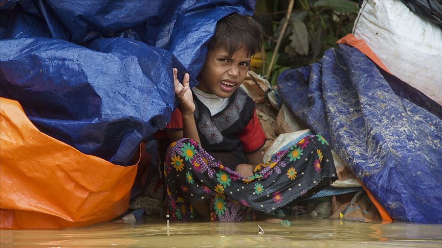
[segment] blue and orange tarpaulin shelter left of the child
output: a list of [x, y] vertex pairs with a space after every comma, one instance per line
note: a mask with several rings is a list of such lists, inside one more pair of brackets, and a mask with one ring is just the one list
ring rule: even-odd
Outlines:
[[[10, 136], [15, 123], [25, 123], [2, 102], [0, 226], [72, 227], [122, 214], [128, 205], [127, 189], [121, 186], [125, 194], [108, 202], [105, 195], [112, 188], [97, 187], [111, 175], [98, 173], [103, 169], [99, 164], [55, 160], [59, 149], [49, 144], [72, 146], [80, 161], [96, 156], [106, 166], [112, 163], [115, 170], [126, 171], [112, 180], [131, 184], [134, 178], [124, 174], [134, 168], [118, 165], [131, 165], [140, 142], [170, 120], [175, 107], [172, 68], [178, 68], [180, 77], [186, 71], [198, 75], [217, 20], [235, 11], [252, 15], [254, 5], [236, 0], [1, 1], [1, 96], [18, 101], [41, 133]], [[47, 135], [58, 142], [34, 141]], [[39, 153], [26, 152], [30, 145], [37, 145], [33, 149]], [[77, 169], [64, 170], [62, 165]], [[96, 173], [99, 177], [90, 181]], [[52, 187], [34, 187], [47, 185], [50, 177]], [[78, 180], [67, 184], [72, 179]], [[96, 185], [86, 187], [86, 182]], [[84, 191], [77, 199], [62, 197], [67, 195], [62, 192], [79, 188]], [[48, 197], [40, 199], [39, 194]], [[96, 206], [86, 204], [91, 199], [105, 208], [126, 207], [100, 215]], [[40, 201], [77, 204], [42, 207]], [[45, 221], [33, 220], [35, 216], [45, 216], [40, 218]], [[85, 216], [88, 221], [83, 221]]]

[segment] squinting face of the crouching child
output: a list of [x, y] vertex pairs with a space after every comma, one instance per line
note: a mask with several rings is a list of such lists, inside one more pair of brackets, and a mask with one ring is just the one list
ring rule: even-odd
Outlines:
[[224, 48], [209, 49], [206, 62], [197, 77], [196, 87], [206, 93], [227, 98], [235, 92], [246, 78], [250, 56], [241, 48], [232, 57]]

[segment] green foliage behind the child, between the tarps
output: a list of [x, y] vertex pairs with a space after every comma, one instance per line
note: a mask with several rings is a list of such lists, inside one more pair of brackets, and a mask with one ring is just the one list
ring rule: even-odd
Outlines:
[[[288, 0], [257, 1], [260, 11], [255, 12], [255, 18], [259, 20], [271, 16], [274, 23], [273, 27], [267, 29], [267, 44], [264, 46], [267, 53], [266, 65], [270, 64], [273, 49], [281, 33], [287, 5]], [[326, 49], [336, 47], [339, 38], [351, 33], [358, 11], [358, 4], [350, 0], [296, 0], [272, 68], [269, 79], [272, 85], [276, 84], [276, 78], [283, 70], [317, 62]], [[268, 19], [266, 22], [268, 23]]]

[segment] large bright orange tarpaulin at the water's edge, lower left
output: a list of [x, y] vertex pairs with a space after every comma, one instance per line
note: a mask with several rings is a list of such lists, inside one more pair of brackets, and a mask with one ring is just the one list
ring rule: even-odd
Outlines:
[[41, 133], [20, 104], [0, 97], [0, 228], [68, 228], [128, 208], [137, 164], [85, 155]]

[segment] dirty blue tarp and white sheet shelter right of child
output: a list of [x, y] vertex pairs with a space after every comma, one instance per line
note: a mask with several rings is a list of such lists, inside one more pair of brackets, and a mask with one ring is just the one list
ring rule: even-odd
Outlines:
[[[404, 15], [428, 36], [407, 38]], [[400, 2], [367, 1], [354, 32], [368, 45], [348, 35], [318, 63], [284, 71], [281, 98], [324, 134], [394, 220], [441, 223], [442, 31]]]

